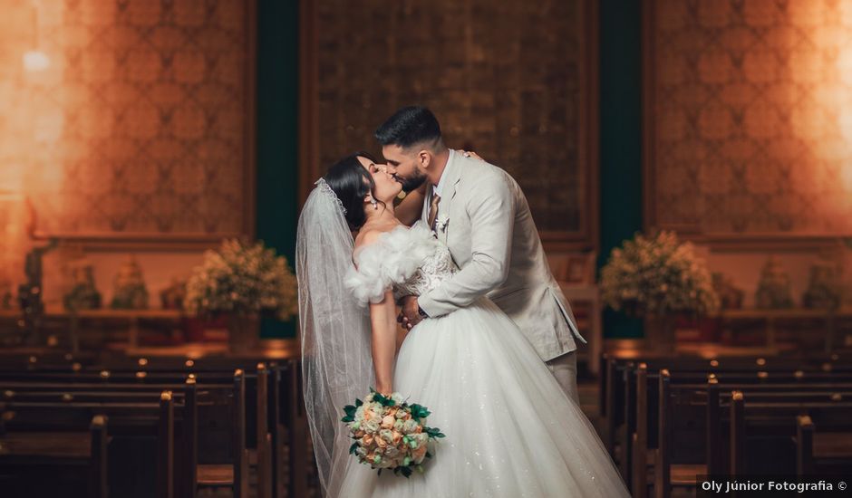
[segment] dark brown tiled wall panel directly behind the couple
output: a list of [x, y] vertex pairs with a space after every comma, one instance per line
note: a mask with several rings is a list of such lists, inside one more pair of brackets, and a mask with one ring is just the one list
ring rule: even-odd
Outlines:
[[542, 231], [588, 227], [583, 137], [592, 41], [583, 0], [321, 0], [319, 163], [377, 151], [394, 110], [427, 105], [448, 145], [475, 148], [526, 192]]

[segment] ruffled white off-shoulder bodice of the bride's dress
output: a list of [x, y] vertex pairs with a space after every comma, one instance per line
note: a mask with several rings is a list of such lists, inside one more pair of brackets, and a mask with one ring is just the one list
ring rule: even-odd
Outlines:
[[450, 249], [422, 222], [411, 228], [398, 226], [379, 235], [373, 244], [355, 251], [346, 288], [357, 302], [382, 302], [392, 289], [395, 298], [422, 295], [456, 273]]

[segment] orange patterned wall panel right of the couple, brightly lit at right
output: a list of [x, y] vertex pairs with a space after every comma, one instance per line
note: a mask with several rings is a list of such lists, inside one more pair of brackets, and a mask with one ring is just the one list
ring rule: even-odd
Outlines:
[[652, 225], [852, 233], [852, 2], [649, 5]]

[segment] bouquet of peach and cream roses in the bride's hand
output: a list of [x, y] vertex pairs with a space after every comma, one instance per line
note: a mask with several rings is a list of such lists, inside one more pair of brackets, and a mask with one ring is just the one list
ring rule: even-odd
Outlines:
[[437, 427], [426, 426], [430, 411], [421, 405], [409, 405], [399, 393], [391, 396], [370, 389], [363, 401], [344, 407], [341, 420], [349, 428], [354, 443], [350, 455], [373, 469], [389, 469], [393, 474], [411, 476], [423, 472], [422, 463], [431, 458], [427, 445], [444, 437]]

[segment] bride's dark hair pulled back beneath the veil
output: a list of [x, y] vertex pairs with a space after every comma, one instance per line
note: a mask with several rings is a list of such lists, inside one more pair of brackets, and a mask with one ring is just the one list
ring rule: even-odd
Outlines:
[[[328, 168], [325, 183], [334, 190], [334, 194], [346, 209], [346, 223], [353, 230], [360, 229], [367, 221], [363, 212], [363, 198], [375, 190], [373, 176], [363, 167], [358, 158], [367, 158], [375, 164], [381, 164], [378, 159], [367, 152], [355, 152], [351, 156], [340, 159], [334, 166]], [[383, 205], [382, 201], [379, 201]]]

